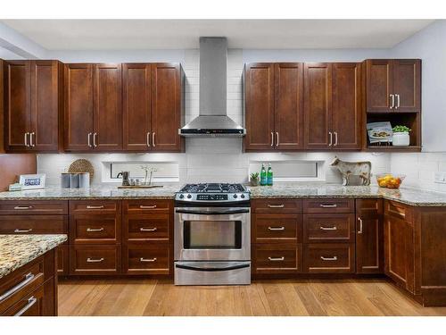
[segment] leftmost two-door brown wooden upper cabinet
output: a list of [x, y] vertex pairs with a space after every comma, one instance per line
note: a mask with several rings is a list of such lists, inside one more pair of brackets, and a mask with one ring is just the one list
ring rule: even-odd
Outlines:
[[62, 145], [62, 63], [4, 62], [6, 152], [57, 152]]

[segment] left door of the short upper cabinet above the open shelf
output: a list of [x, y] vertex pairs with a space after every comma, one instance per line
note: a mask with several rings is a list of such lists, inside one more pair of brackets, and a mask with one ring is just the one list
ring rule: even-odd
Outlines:
[[367, 112], [392, 110], [392, 61], [369, 59], [367, 66]]

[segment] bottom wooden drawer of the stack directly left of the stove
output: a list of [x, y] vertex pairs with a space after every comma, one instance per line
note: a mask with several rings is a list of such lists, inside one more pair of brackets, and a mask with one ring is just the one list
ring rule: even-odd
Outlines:
[[123, 247], [123, 272], [133, 274], [169, 274], [170, 246], [158, 243]]

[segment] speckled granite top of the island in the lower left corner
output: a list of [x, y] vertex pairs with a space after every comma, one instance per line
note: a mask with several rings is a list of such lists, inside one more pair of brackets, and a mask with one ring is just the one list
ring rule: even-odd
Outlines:
[[0, 235], [0, 278], [66, 240], [67, 235]]

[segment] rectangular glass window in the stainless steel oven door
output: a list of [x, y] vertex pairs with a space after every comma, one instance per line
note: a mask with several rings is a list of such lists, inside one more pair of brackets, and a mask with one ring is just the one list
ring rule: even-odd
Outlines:
[[241, 221], [185, 221], [185, 249], [241, 249]]

